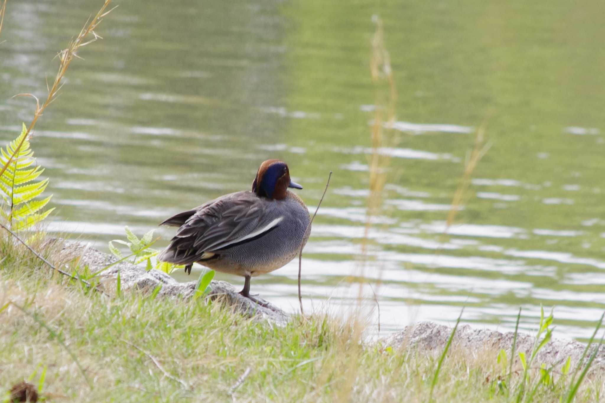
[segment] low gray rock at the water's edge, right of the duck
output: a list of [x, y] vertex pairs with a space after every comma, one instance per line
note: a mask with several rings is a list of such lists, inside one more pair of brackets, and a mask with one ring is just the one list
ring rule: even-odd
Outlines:
[[[450, 338], [452, 328], [436, 324], [433, 322], [420, 322], [411, 326], [406, 326], [401, 332], [391, 335], [383, 340], [385, 346], [408, 347], [415, 346], [418, 349], [434, 351], [441, 353], [445, 344]], [[494, 359], [501, 349], [506, 350], [510, 356], [514, 332], [501, 333], [497, 330], [472, 329], [468, 324], [458, 326], [452, 349], [462, 350], [475, 356], [485, 353], [493, 353]], [[531, 355], [534, 346], [535, 337], [519, 333], [517, 334], [517, 344], [515, 349], [518, 352], [525, 352], [527, 359]], [[560, 369], [567, 357], [571, 356], [571, 368], [575, 369], [586, 344], [575, 340], [553, 339], [543, 346], [534, 358], [535, 366], [545, 363], [547, 366], [555, 365], [555, 369]], [[597, 348], [597, 344], [590, 346], [589, 352], [584, 359], [587, 361], [590, 354]], [[515, 353], [515, 359], [518, 361], [518, 355]], [[532, 365], [534, 366], [534, 365]], [[595, 360], [592, 363], [591, 370], [605, 369], [605, 346], [601, 346]]]

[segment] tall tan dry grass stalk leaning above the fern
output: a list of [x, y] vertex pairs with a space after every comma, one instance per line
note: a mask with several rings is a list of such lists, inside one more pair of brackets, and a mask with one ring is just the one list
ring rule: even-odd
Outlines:
[[[2, 5], [2, 11], [0, 11], [2, 13], [2, 17], [4, 17], [4, 8], [6, 7], [6, 2], [7, 2], [7, 0], [4, 0], [4, 3]], [[106, 8], [108, 7], [108, 5], [110, 4], [110, 2], [111, 2], [111, 0], [105, 0], [105, 3], [100, 8], [99, 12], [90, 20], [90, 23], [87, 22], [87, 25], [84, 25], [82, 30], [80, 30], [80, 33], [78, 34], [76, 39], [71, 40], [70, 43], [68, 44], [67, 48], [60, 51], [59, 54], [57, 55], [57, 56], [59, 56], [59, 63], [60, 63], [59, 71], [57, 71], [57, 75], [56, 75], [56, 77], [54, 77], [53, 85], [50, 88], [48, 88], [48, 84], [47, 84], [48, 96], [47, 96], [45, 102], [42, 103], [42, 105], [40, 105], [40, 101], [39, 101], [38, 97], [36, 97], [36, 95], [33, 95], [33, 94], [17, 94], [17, 95], [15, 95], [15, 97], [20, 97], [20, 96], [33, 97], [36, 100], [36, 110], [34, 111], [34, 117], [31, 120], [30, 125], [27, 127], [27, 135], [25, 135], [23, 140], [21, 140], [21, 143], [19, 143], [19, 145], [16, 147], [13, 155], [11, 155], [10, 158], [8, 158], [7, 163], [0, 170], [0, 176], [2, 176], [4, 171], [7, 169], [7, 167], [10, 165], [10, 163], [13, 161], [13, 158], [15, 158], [15, 155], [18, 155], [19, 150], [21, 150], [21, 146], [23, 145], [25, 139], [31, 137], [31, 133], [33, 132], [34, 126], [36, 126], [36, 122], [38, 121], [38, 118], [42, 116], [42, 112], [44, 112], [44, 109], [46, 109], [47, 106], [50, 105], [57, 98], [58, 92], [61, 89], [61, 87], [63, 86], [62, 79], [65, 76], [65, 73], [67, 73], [67, 68], [70, 66], [71, 60], [73, 60], [74, 57], [79, 57], [79, 56], [77, 56], [77, 51], [81, 47], [91, 44], [92, 42], [96, 41], [97, 39], [103, 39], [97, 33], [94, 32], [94, 29], [100, 24], [101, 21], [103, 21], [103, 18], [106, 15], [108, 15], [112, 10], [114, 10], [114, 8], [117, 7], [116, 6], [114, 8], [111, 8], [111, 10], [109, 10], [109, 11], [105, 11]], [[0, 23], [0, 27], [1, 27], [1, 23]], [[93, 39], [86, 40], [90, 34], [93, 35]]]

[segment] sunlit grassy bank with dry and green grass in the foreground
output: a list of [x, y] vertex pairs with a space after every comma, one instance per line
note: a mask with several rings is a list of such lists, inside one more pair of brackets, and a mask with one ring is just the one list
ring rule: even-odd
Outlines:
[[[41, 250], [56, 263], [52, 250]], [[364, 338], [360, 321], [327, 314], [296, 315], [276, 326], [204, 298], [186, 303], [123, 290], [110, 298], [24, 252], [25, 260], [0, 263], [0, 396], [47, 367], [43, 394], [82, 402], [509, 401], [495, 379], [486, 381], [501, 371], [499, 352], [489, 346], [476, 356], [451, 337], [438, 353], [383, 348]], [[539, 366], [528, 369], [532, 382], [523, 401], [565, 401], [572, 386], [577, 399], [590, 400], [603, 378], [589, 369], [582, 376], [583, 369], [573, 384], [562, 376], [556, 385], [545, 383]], [[513, 371], [514, 399], [521, 382]]]

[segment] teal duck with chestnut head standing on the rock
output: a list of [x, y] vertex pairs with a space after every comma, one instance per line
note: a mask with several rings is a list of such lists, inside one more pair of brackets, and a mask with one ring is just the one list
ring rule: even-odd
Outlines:
[[160, 225], [178, 227], [158, 260], [193, 263], [244, 277], [243, 297], [250, 278], [281, 268], [304, 248], [311, 232], [309, 209], [288, 189], [302, 189], [290, 179], [284, 161], [267, 160], [258, 168], [252, 190], [229, 193], [191, 210], [175, 214]]

